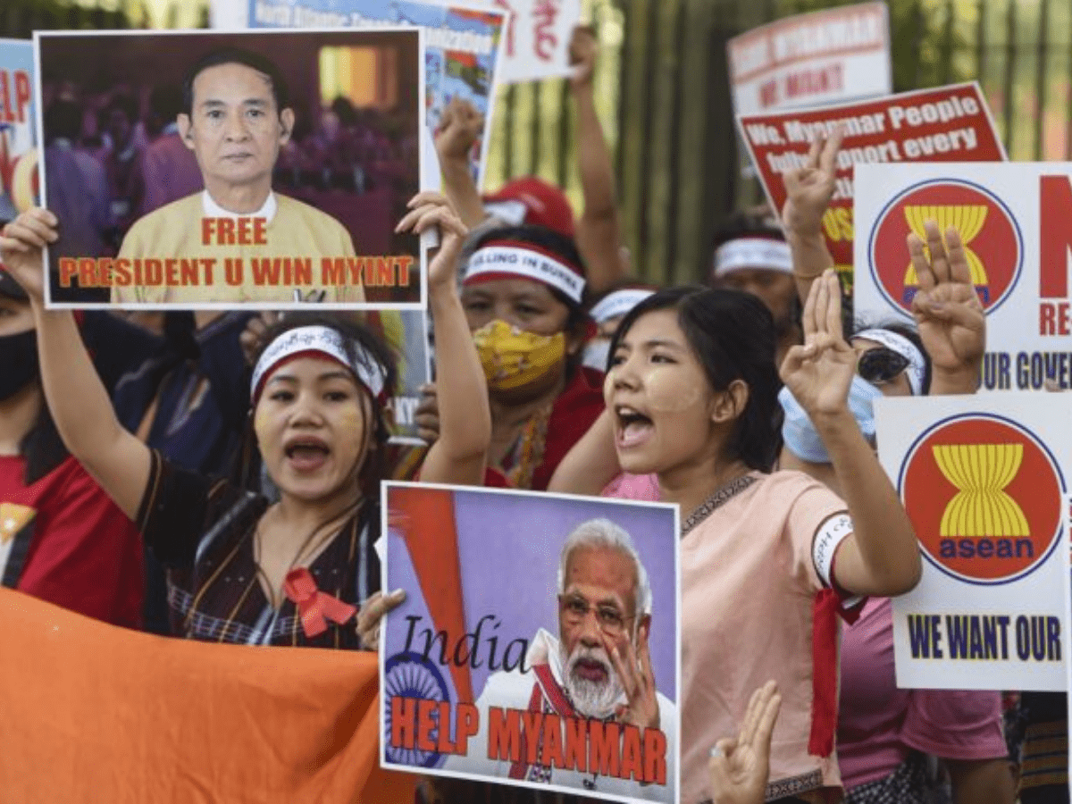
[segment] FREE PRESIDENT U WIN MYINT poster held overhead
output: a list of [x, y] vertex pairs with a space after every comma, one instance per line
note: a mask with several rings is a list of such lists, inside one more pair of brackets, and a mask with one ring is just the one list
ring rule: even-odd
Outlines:
[[415, 31], [40, 33], [49, 302], [416, 306]]

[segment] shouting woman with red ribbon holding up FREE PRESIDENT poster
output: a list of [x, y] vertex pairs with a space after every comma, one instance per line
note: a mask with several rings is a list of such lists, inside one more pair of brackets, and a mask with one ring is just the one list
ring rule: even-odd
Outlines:
[[[480, 481], [490, 433], [487, 390], [455, 286], [465, 228], [434, 194], [411, 202], [399, 230], [438, 226], [430, 307], [443, 341], [443, 432], [425, 479]], [[394, 370], [385, 346], [340, 318], [287, 316], [270, 330], [250, 388], [255, 448], [280, 501], [173, 465], [123, 430], [70, 312], [43, 304], [41, 250], [56, 218], [21, 214], [0, 237], [30, 297], [45, 396], [71, 452], [136, 522], [168, 569], [176, 632], [245, 644], [374, 647], [355, 627], [399, 598], [379, 598], [378, 490]], [[376, 598], [368, 604], [370, 596]], [[362, 638], [363, 637], [363, 638]]]

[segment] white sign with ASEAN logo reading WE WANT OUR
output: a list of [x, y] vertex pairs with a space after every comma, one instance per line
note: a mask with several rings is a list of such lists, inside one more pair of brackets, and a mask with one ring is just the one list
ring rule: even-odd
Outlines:
[[923, 578], [893, 600], [897, 686], [1066, 688], [1072, 434], [1059, 393], [880, 398], [879, 459]]

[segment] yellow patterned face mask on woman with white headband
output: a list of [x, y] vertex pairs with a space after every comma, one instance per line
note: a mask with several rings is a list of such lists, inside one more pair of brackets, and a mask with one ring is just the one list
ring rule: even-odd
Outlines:
[[474, 332], [473, 343], [492, 390], [523, 388], [560, 368], [566, 358], [562, 332], [525, 332], [498, 318]]

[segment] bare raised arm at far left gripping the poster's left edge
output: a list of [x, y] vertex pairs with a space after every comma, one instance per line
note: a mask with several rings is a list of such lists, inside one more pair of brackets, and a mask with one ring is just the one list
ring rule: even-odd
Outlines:
[[149, 480], [149, 448], [122, 428], [68, 310], [45, 310], [42, 249], [58, 221], [31, 209], [0, 236], [0, 260], [30, 297], [38, 328], [41, 378], [63, 443], [131, 519]]

